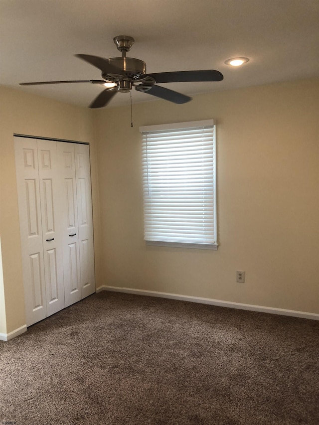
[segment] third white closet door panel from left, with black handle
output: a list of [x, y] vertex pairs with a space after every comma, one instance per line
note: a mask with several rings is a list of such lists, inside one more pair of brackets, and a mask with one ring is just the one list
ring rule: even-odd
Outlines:
[[80, 252], [77, 216], [74, 143], [58, 142], [61, 176], [63, 268], [65, 306], [81, 299]]

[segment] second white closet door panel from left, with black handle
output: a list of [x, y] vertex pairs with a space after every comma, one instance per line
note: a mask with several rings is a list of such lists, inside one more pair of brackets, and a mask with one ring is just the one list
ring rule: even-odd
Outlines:
[[58, 172], [57, 142], [38, 140], [37, 146], [47, 315], [49, 316], [65, 307], [61, 178]]

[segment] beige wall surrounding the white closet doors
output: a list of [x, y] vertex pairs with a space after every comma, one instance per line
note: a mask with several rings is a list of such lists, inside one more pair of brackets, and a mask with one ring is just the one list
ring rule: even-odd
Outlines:
[[3, 266], [0, 333], [9, 333], [25, 324], [13, 133], [90, 142], [97, 282], [100, 280], [99, 201], [92, 111], [5, 87], [0, 87], [0, 99], [0, 235]]

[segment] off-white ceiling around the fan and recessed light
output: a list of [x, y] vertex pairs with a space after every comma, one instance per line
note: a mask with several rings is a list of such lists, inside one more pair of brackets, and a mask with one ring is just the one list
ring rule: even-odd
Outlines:
[[[18, 83], [101, 79], [74, 57], [121, 56], [117, 35], [135, 38], [128, 56], [147, 71], [217, 69], [222, 82], [162, 86], [184, 94], [319, 76], [319, 0], [0, 0], [0, 83], [88, 106], [100, 85]], [[240, 68], [224, 64], [245, 56]], [[155, 100], [132, 91], [133, 102]], [[109, 104], [129, 105], [128, 93]]]

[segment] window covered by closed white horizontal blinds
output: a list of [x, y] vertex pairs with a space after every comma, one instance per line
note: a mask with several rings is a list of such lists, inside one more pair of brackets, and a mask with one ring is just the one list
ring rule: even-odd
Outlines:
[[213, 120], [141, 127], [144, 239], [217, 249]]

